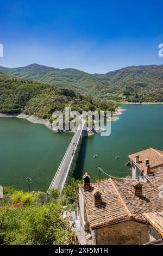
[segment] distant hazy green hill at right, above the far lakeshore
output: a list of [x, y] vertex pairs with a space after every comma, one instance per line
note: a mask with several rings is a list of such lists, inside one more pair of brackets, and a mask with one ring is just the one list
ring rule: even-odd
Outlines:
[[130, 66], [96, 76], [108, 83], [114, 99], [163, 101], [163, 65]]

